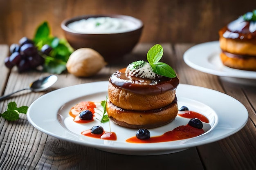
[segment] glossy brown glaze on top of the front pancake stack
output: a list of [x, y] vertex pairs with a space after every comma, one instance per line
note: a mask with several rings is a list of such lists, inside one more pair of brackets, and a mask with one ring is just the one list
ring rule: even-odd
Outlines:
[[113, 86], [123, 88], [132, 93], [141, 95], [157, 95], [169, 90], [174, 90], [179, 84], [179, 79], [157, 75], [156, 79], [142, 79], [126, 77], [126, 68], [116, 71], [110, 76], [109, 82]]

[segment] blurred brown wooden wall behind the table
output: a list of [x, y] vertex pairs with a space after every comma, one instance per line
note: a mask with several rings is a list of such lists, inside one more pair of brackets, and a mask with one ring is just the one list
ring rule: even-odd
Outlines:
[[0, 44], [33, 38], [45, 20], [63, 38], [64, 19], [105, 13], [141, 19], [140, 42], [201, 43], [218, 40], [222, 26], [253, 9], [256, 0], [0, 0]]

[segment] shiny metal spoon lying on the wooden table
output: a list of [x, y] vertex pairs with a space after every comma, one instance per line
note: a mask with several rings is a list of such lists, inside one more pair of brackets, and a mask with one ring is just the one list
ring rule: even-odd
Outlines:
[[40, 91], [45, 91], [49, 87], [51, 87], [56, 81], [58, 77], [56, 75], [49, 75], [47, 77], [42, 77], [35, 82], [31, 83], [29, 87], [23, 88], [21, 90], [15, 91], [13, 93], [10, 93], [9, 95], [4, 95], [0, 97], [0, 101], [6, 99], [7, 97], [13, 95], [14, 93], [24, 91], [24, 90], [31, 90], [33, 92], [40, 92]]

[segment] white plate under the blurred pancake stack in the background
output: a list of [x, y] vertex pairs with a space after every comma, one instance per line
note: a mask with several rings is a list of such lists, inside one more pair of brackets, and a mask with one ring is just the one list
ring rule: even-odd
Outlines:
[[218, 76], [256, 79], [256, 71], [244, 71], [224, 66], [220, 60], [218, 41], [195, 45], [184, 53], [184, 62], [199, 71]]

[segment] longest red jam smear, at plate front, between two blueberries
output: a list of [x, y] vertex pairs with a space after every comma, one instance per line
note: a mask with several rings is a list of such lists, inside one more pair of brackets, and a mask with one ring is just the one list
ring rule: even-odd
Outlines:
[[150, 139], [141, 140], [136, 136], [131, 137], [126, 140], [129, 143], [157, 143], [157, 142], [167, 142], [167, 141], [177, 141], [182, 139], [189, 139], [202, 135], [204, 133], [203, 129], [194, 128], [189, 125], [178, 126], [177, 128], [165, 132], [161, 136], [150, 137]]

